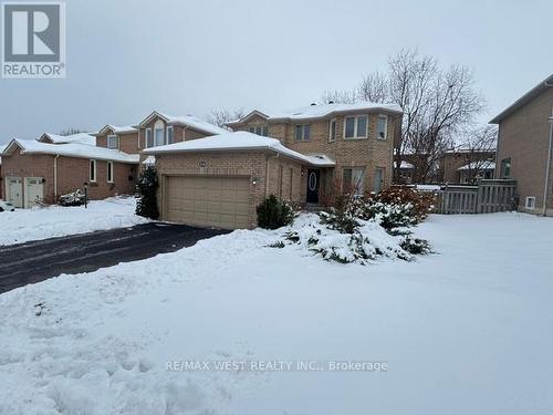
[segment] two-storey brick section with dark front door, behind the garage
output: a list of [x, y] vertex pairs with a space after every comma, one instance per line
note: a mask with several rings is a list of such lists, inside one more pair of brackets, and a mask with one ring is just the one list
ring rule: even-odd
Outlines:
[[309, 168], [306, 203], [320, 204], [326, 195], [353, 188], [357, 194], [378, 193], [392, 184], [394, 142], [401, 134], [403, 112], [395, 104], [312, 104], [284, 113], [253, 111], [228, 123], [276, 138], [307, 156], [327, 157], [335, 165]]

